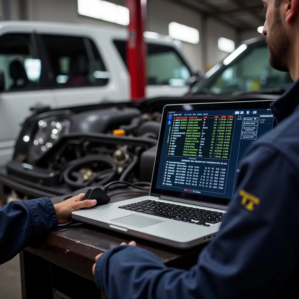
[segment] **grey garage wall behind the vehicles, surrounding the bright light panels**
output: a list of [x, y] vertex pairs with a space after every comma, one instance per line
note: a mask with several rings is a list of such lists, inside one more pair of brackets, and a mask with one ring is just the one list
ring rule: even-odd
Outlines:
[[[125, 5], [125, 0], [109, 1]], [[0, 16], [1, 2], [2, 0], [0, 0]], [[23, 3], [24, 6], [26, 2], [26, 11], [24, 12], [20, 5]], [[198, 29], [202, 37], [202, 17], [198, 13], [168, 0], [148, 0], [147, 3], [148, 31], [167, 35], [168, 24], [174, 21]], [[123, 28], [121, 25], [80, 16], [77, 13], [77, 0], [11, 0], [11, 18], [15, 20], [90, 23], [105, 27]], [[222, 23], [210, 19], [206, 21], [206, 28], [208, 31], [206, 45], [202, 45], [202, 39], [197, 45], [182, 43], [185, 55], [194, 68], [200, 71], [206, 71], [207, 65], [214, 65], [228, 55], [218, 50], [217, 40], [219, 37], [223, 36], [236, 41], [235, 30]], [[206, 55], [203, 55], [203, 50], [206, 51]], [[203, 56], [206, 56], [206, 63], [203, 61]]]

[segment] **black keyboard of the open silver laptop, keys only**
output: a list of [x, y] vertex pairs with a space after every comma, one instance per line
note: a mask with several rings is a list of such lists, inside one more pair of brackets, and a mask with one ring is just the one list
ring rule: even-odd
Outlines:
[[150, 199], [130, 205], [123, 205], [118, 208], [203, 226], [210, 226], [211, 224], [221, 222], [225, 214], [167, 202], [157, 202]]

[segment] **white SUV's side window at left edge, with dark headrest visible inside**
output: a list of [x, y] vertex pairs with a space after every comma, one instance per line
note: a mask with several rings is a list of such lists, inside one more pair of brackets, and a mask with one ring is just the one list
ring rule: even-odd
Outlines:
[[30, 34], [0, 36], [0, 71], [4, 74], [5, 91], [45, 87], [41, 82], [42, 63], [33, 49]]

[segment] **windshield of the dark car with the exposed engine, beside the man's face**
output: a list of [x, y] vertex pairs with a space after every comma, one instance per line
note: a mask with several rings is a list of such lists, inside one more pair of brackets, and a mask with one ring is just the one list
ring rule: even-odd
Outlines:
[[274, 70], [269, 65], [269, 50], [266, 42], [263, 41], [248, 46], [241, 45], [223, 63], [215, 65], [214, 69], [207, 72], [205, 80], [195, 86], [191, 92], [220, 94], [234, 91], [287, 89], [291, 84], [292, 78], [289, 73]]

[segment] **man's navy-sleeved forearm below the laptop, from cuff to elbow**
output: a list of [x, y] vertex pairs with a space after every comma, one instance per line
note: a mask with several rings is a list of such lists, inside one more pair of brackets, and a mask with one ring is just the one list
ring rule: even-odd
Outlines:
[[190, 271], [167, 268], [149, 251], [119, 246], [97, 261], [96, 285], [108, 298], [216, 298], [199, 266]]

